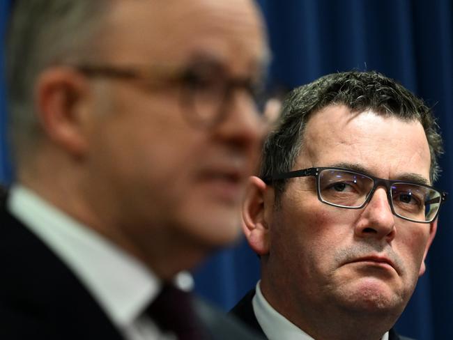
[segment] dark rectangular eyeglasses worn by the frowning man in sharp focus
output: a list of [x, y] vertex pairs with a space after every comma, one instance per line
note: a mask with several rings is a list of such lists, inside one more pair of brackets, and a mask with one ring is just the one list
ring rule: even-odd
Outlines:
[[360, 209], [367, 205], [377, 187], [385, 187], [393, 215], [411, 222], [430, 223], [438, 216], [446, 192], [404, 180], [386, 180], [356, 171], [318, 167], [279, 173], [263, 178], [264, 182], [314, 176], [319, 201], [330, 206]]

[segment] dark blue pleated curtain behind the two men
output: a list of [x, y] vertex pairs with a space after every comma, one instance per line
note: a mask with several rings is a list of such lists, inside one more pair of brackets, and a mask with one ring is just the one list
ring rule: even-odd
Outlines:
[[[10, 0], [0, 0], [0, 33]], [[261, 0], [270, 34], [275, 84], [292, 88], [343, 70], [378, 70], [433, 107], [445, 141], [436, 184], [453, 194], [453, 5], [451, 0]], [[2, 72], [0, 70], [0, 77]], [[0, 134], [5, 102], [0, 86]], [[0, 181], [11, 179], [4, 139]], [[440, 212], [427, 273], [397, 329], [422, 340], [453, 339], [453, 199]], [[195, 273], [197, 291], [229, 309], [259, 278], [244, 241], [215, 254]]]

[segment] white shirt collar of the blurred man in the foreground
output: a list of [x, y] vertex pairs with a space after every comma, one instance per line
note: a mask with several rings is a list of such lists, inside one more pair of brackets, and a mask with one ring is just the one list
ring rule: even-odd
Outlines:
[[[10, 190], [8, 209], [66, 263], [125, 339], [175, 339], [143, 315], [161, 282], [136, 258], [21, 185]], [[190, 286], [187, 275], [176, 283]]]

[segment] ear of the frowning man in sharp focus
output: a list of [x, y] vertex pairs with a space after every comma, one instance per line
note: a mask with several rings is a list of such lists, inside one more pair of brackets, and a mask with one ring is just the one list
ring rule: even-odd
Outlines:
[[[269, 253], [269, 222], [265, 215], [266, 183], [256, 176], [249, 177], [245, 201], [243, 203], [243, 231], [250, 247], [260, 256]], [[272, 199], [273, 203], [273, 199]]]

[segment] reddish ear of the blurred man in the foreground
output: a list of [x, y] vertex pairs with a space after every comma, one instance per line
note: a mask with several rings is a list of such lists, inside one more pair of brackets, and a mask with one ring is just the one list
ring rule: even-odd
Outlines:
[[47, 137], [76, 157], [86, 152], [84, 125], [89, 118], [86, 78], [71, 68], [45, 70], [35, 88], [36, 111]]

